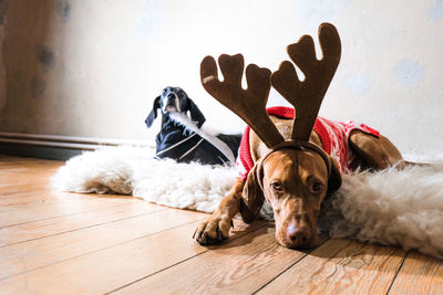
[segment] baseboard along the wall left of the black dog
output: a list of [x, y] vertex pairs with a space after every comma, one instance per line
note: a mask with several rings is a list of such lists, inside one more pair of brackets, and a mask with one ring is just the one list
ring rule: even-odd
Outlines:
[[0, 133], [0, 154], [21, 157], [68, 160], [73, 156], [81, 155], [85, 150], [95, 150], [103, 146], [152, 147], [153, 143], [145, 140]]

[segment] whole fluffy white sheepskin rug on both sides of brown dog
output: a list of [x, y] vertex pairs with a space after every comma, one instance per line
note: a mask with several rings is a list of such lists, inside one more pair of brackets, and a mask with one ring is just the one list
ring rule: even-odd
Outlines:
[[[153, 155], [153, 149], [141, 147], [84, 152], [59, 169], [52, 186], [213, 212], [236, 177], [233, 167], [154, 160]], [[406, 159], [432, 165], [344, 175], [340, 190], [323, 203], [320, 229], [332, 238], [400, 245], [443, 259], [443, 155]], [[269, 206], [260, 213], [272, 218]]]

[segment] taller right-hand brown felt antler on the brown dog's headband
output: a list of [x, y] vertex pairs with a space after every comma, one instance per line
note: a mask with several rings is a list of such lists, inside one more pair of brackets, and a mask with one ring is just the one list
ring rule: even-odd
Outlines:
[[340, 62], [341, 44], [337, 29], [330, 23], [319, 28], [322, 60], [317, 60], [313, 41], [303, 35], [287, 48], [290, 59], [303, 72], [305, 81], [297, 76], [292, 63], [285, 61], [271, 75], [272, 86], [296, 109], [292, 139], [309, 140], [321, 102]]

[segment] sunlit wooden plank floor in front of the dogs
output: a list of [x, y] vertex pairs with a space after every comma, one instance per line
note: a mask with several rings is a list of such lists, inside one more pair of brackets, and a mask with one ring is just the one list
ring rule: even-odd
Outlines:
[[207, 214], [53, 192], [61, 165], [0, 156], [0, 294], [443, 294], [440, 260], [350, 240], [288, 250], [266, 222], [199, 246]]

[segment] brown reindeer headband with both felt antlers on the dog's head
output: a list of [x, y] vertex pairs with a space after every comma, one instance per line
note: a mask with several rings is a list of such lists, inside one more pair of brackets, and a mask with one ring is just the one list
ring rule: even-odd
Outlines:
[[[340, 36], [330, 23], [319, 28], [319, 40], [323, 57], [316, 57], [313, 40], [303, 35], [297, 43], [287, 46], [289, 57], [301, 70], [305, 80], [298, 78], [292, 63], [285, 61], [271, 74], [268, 69], [249, 64], [246, 67], [247, 89], [241, 87], [244, 57], [241, 54], [218, 57], [224, 81], [217, 75], [213, 56], [206, 56], [200, 64], [203, 87], [219, 103], [237, 114], [248, 124], [271, 151], [286, 147], [303, 147], [323, 157], [330, 170], [324, 151], [309, 143], [321, 102], [332, 81], [341, 56]], [[272, 86], [296, 109], [291, 139], [285, 140], [266, 113], [266, 103]]]

